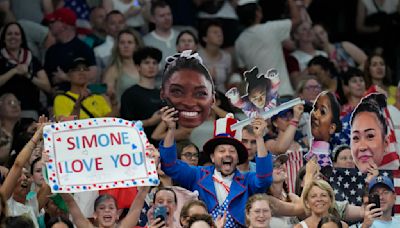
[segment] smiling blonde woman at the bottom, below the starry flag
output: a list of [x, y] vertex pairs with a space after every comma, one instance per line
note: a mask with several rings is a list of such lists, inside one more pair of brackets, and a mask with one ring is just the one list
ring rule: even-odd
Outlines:
[[[329, 183], [324, 180], [311, 181], [304, 188], [302, 199], [304, 208], [311, 212], [311, 216], [294, 226], [295, 228], [317, 227], [323, 216], [339, 215], [335, 208], [335, 193]], [[342, 224], [348, 227], [344, 222]]]

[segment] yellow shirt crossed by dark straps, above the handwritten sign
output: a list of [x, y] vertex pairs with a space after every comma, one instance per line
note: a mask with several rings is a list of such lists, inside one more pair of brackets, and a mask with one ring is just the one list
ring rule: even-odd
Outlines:
[[[78, 99], [79, 94], [66, 92], [71, 97]], [[68, 117], [74, 109], [75, 101], [71, 98], [60, 94], [54, 98], [54, 115], [56, 119], [61, 116]], [[94, 117], [105, 117], [111, 112], [111, 107], [106, 99], [101, 95], [92, 94], [83, 100], [82, 104]], [[88, 119], [90, 116], [81, 108], [79, 119]]]

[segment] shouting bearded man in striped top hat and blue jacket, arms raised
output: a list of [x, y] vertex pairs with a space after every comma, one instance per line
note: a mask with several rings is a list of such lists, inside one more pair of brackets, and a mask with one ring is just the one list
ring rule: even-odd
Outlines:
[[257, 141], [256, 172], [241, 174], [237, 165], [247, 160], [246, 147], [234, 138], [230, 125], [236, 122], [233, 116], [215, 122], [214, 138], [203, 146], [203, 153], [210, 155], [214, 165], [195, 167], [177, 160], [174, 132], [177, 118], [174, 108], [161, 109], [162, 120], [168, 132], [160, 143], [161, 169], [182, 187], [199, 192], [199, 197], [214, 219], [227, 212], [225, 227], [244, 227], [244, 209], [247, 199], [265, 192], [272, 183], [272, 156], [267, 152], [263, 135], [266, 122], [255, 118], [252, 126]]

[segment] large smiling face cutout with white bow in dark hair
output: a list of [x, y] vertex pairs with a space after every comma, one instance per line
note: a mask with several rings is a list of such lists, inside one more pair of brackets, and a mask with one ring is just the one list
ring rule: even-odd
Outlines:
[[161, 98], [178, 111], [178, 124], [194, 128], [202, 124], [215, 102], [214, 83], [198, 54], [184, 51], [170, 56], [162, 79]]

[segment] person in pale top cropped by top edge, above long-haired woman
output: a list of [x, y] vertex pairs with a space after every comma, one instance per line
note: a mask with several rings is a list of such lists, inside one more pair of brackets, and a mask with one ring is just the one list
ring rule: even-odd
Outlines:
[[107, 12], [118, 10], [126, 18], [126, 25], [138, 32], [143, 32], [146, 27], [147, 4], [151, 1], [143, 0], [103, 0], [103, 7]]

